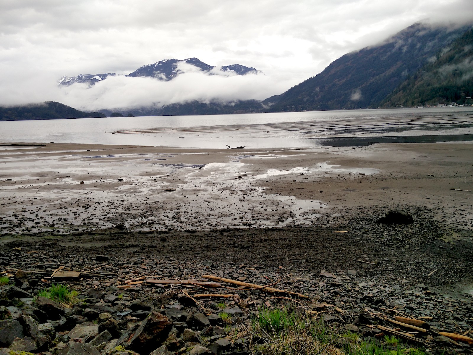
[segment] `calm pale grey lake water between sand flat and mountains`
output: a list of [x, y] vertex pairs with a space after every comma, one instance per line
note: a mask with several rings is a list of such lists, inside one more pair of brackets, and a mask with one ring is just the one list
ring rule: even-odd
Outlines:
[[252, 149], [459, 140], [473, 140], [473, 107], [0, 122], [4, 143]]

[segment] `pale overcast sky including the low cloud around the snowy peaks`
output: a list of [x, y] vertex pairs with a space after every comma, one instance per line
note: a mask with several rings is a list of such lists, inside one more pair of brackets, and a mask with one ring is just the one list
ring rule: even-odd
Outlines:
[[[473, 0], [1, 0], [0, 104], [54, 100], [100, 109], [263, 99], [427, 18], [472, 20]], [[144, 64], [190, 57], [242, 64], [266, 76], [191, 73], [172, 84], [115, 79], [92, 89], [56, 85], [63, 75], [129, 74]]]

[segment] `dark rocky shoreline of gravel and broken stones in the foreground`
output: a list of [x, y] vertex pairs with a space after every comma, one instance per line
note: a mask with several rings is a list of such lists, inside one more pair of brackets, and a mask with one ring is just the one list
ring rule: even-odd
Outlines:
[[[473, 337], [473, 298], [465, 291], [472, 283], [472, 243], [440, 240], [451, 236], [451, 226], [406, 209], [414, 213], [412, 224], [379, 224], [360, 212], [336, 226], [321, 218], [320, 226], [281, 229], [9, 236], [0, 252], [2, 275], [12, 276], [1, 288], [0, 346], [9, 349], [0, 354], [250, 354], [250, 339], [235, 337], [235, 329], [260, 307], [288, 303], [320, 313], [334, 332], [350, 330], [368, 342], [382, 343], [389, 333], [380, 327], [397, 328], [385, 317], [423, 320], [429, 327], [414, 331], [417, 346], [431, 354], [471, 352], [468, 340], [440, 333]], [[52, 277], [58, 268], [76, 274]], [[205, 275], [272, 285], [281, 293], [202, 286], [210, 282]], [[77, 290], [80, 302], [64, 309], [34, 298], [56, 282]], [[227, 296], [193, 297], [205, 293]]]

